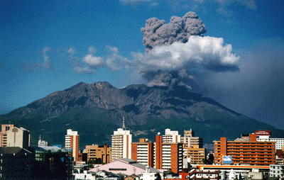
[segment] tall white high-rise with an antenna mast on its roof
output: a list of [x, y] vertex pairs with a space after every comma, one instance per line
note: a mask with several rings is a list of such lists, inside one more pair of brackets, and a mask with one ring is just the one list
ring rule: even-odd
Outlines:
[[111, 135], [111, 159], [114, 161], [120, 158], [131, 159], [132, 135], [130, 130], [119, 128]]

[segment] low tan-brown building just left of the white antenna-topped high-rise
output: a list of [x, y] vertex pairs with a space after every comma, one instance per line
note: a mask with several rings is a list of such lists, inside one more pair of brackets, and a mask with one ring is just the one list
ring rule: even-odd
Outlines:
[[87, 160], [99, 160], [104, 163], [111, 162], [111, 147], [109, 145], [87, 145]]

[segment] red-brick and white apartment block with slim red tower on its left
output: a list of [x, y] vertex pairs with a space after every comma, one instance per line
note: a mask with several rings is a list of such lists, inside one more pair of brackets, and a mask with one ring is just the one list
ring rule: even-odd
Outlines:
[[182, 171], [182, 143], [163, 142], [158, 133], [155, 137], [155, 169], [172, 169], [174, 173]]

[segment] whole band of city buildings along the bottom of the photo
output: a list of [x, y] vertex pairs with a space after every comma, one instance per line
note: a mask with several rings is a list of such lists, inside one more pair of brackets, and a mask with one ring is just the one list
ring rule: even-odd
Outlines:
[[[64, 137], [62, 137], [64, 138]], [[132, 141], [125, 126], [114, 131], [109, 145], [80, 148], [80, 135], [67, 130], [65, 146], [39, 137], [30, 146], [25, 128], [1, 125], [0, 179], [284, 179], [284, 139], [270, 130], [214, 140], [207, 153], [194, 131], [165, 129], [155, 141]]]

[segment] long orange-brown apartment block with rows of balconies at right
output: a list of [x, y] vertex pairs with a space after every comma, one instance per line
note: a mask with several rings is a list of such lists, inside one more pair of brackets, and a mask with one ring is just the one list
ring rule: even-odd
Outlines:
[[275, 142], [258, 142], [256, 134], [242, 135], [234, 141], [221, 137], [214, 142], [214, 163], [223, 164], [223, 156], [231, 156], [232, 164], [275, 164]]

